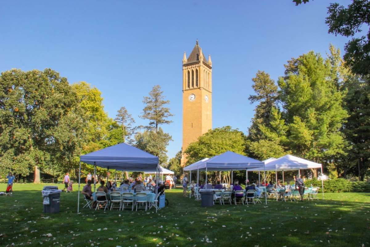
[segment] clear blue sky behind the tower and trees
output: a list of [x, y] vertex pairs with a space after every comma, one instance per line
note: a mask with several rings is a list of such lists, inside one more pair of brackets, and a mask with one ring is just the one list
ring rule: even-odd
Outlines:
[[143, 96], [159, 84], [175, 114], [163, 126], [173, 157], [182, 144], [182, 56], [197, 38], [212, 56], [213, 128], [247, 133], [258, 70], [276, 81], [291, 57], [325, 55], [329, 43], [343, 53], [347, 39], [324, 23], [334, 1], [3, 1], [0, 71], [50, 67], [70, 83], [87, 81], [110, 117], [125, 106], [138, 125], [147, 123], [138, 117]]

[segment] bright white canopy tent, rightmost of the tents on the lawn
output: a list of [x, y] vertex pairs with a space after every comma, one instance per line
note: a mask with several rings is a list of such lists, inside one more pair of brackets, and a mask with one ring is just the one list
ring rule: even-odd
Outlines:
[[[304, 158], [299, 158], [290, 154], [287, 154], [280, 158], [269, 158], [265, 162], [265, 171], [275, 171], [276, 173], [276, 183], [277, 183], [277, 171], [292, 171], [300, 169], [311, 169], [320, 168], [321, 174], [323, 174], [322, 164], [315, 163], [313, 161], [305, 160]], [[261, 168], [250, 168], [247, 171], [261, 171]], [[321, 180], [322, 184], [322, 194], [324, 198], [324, 181]]]

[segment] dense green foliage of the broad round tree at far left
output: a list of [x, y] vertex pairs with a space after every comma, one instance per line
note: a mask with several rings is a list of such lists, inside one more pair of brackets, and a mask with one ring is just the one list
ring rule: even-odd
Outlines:
[[85, 123], [67, 79], [51, 69], [12, 69], [0, 87], [0, 172], [75, 167]]

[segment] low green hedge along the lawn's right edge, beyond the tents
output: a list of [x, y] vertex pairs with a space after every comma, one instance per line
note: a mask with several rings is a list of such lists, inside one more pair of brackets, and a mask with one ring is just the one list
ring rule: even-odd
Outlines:
[[[320, 187], [321, 180], [306, 179], [305, 186]], [[350, 181], [344, 178], [334, 178], [324, 181], [324, 192], [370, 192], [370, 183], [362, 181]]]

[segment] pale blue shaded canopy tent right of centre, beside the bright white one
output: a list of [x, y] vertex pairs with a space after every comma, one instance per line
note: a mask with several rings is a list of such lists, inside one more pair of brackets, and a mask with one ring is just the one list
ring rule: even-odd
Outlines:
[[[233, 171], [233, 170], [246, 170], [248, 168], [262, 168], [265, 163], [253, 158], [243, 156], [241, 154], [234, 153], [232, 151], [226, 151], [223, 154], [213, 156], [212, 158], [205, 158], [199, 160], [189, 166], [184, 167], [184, 171], [198, 171], [198, 184], [199, 184], [199, 171], [206, 171], [206, 183], [207, 183], [207, 171]], [[248, 174], [246, 172], [248, 178]], [[190, 173], [191, 180], [191, 173]], [[265, 193], [265, 200], [267, 204], [267, 198]]]

